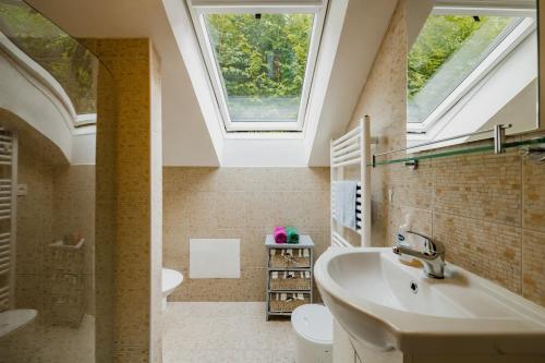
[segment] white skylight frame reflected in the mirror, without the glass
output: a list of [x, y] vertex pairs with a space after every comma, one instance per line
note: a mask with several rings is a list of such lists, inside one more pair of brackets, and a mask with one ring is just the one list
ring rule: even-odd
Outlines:
[[[447, 2], [447, 1], [445, 1]], [[471, 1], [468, 1], [471, 3]], [[457, 5], [436, 5], [432, 12], [434, 15], [497, 15], [522, 17], [522, 22], [517, 24], [505, 38], [500, 39], [494, 49], [471, 71], [463, 81], [458, 84], [450, 93], [425, 117], [422, 122], [408, 122], [407, 132], [417, 135], [426, 135], [432, 129], [443, 129], [445, 120], [443, 117], [452, 109], [458, 101], [465, 95], [471, 94], [472, 89], [484, 78], [488, 77], [493, 70], [504, 61], [504, 59], [521, 44], [532, 32], [537, 28], [537, 12], [530, 8], [506, 8], [506, 7], [457, 7]], [[533, 19], [533, 21], [530, 21]], [[411, 136], [412, 137], [412, 136]], [[426, 136], [426, 140], [429, 135]]]

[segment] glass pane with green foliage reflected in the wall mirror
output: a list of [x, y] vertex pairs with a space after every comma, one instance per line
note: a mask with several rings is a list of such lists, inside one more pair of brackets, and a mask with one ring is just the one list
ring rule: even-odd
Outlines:
[[520, 21], [429, 15], [408, 56], [408, 122], [424, 122]]

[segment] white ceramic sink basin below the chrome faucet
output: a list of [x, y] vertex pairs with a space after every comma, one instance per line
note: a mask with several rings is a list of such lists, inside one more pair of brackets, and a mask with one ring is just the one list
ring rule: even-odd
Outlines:
[[457, 266], [438, 280], [391, 249], [331, 247], [315, 277], [332, 315], [367, 349], [545, 354], [545, 308]]

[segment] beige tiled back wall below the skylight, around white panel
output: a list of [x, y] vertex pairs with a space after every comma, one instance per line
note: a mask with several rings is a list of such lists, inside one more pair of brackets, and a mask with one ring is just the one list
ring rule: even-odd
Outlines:
[[[164, 262], [183, 271], [171, 301], [265, 300], [265, 235], [296, 226], [329, 245], [328, 168], [164, 168]], [[240, 279], [190, 279], [190, 238], [241, 239]]]

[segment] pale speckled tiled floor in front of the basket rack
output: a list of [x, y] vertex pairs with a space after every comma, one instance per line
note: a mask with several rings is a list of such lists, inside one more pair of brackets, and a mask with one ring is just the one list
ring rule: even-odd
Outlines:
[[289, 319], [265, 320], [265, 303], [169, 302], [164, 363], [293, 363]]

